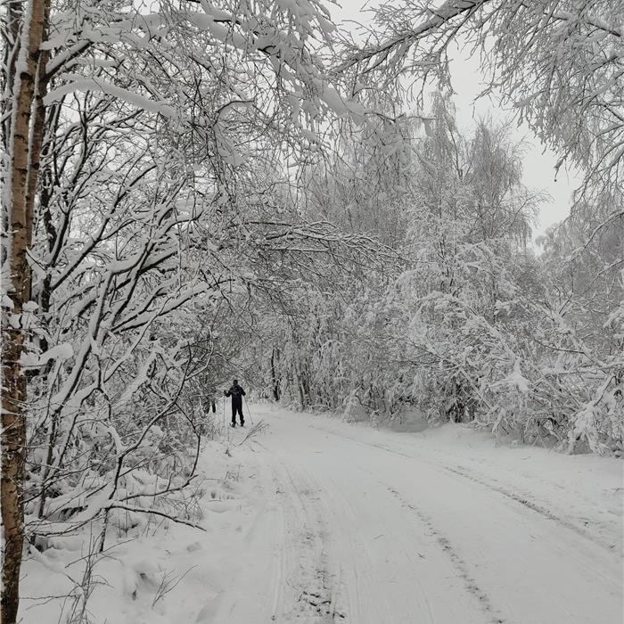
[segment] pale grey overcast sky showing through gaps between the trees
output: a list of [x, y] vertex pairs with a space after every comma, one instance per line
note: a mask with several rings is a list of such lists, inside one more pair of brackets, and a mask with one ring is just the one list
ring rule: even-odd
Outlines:
[[[362, 7], [377, 4], [365, 3], [363, 0], [341, 0], [341, 7], [330, 5], [336, 21], [353, 20], [361, 23], [371, 21], [371, 14], [361, 12]], [[349, 26], [344, 24], [345, 27]], [[355, 26], [352, 27], [355, 29]], [[451, 63], [453, 87], [456, 91], [456, 116], [460, 129], [470, 132], [474, 127], [473, 119], [490, 115], [493, 119], [511, 119], [511, 113], [503, 111], [496, 102], [482, 98], [475, 102], [477, 94], [483, 89], [479, 69], [479, 59], [470, 58], [468, 51], [457, 51]], [[514, 126], [515, 127], [515, 126]], [[526, 125], [515, 128], [514, 135], [520, 141], [525, 138], [530, 142], [530, 149], [524, 158], [524, 184], [535, 190], [544, 190], [552, 196], [546, 201], [539, 214], [535, 236], [546, 232], [546, 228], [562, 221], [570, 212], [571, 192], [578, 185], [578, 178], [562, 168], [557, 179], [554, 179], [555, 158], [553, 152], [541, 145]]]

